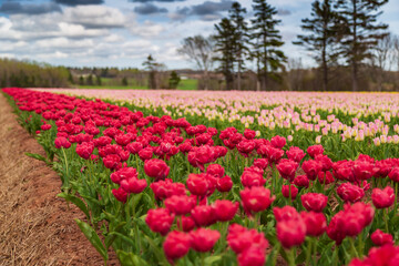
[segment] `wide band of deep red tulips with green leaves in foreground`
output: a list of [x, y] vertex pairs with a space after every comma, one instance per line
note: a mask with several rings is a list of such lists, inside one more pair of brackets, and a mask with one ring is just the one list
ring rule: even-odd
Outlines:
[[[396, 265], [399, 160], [217, 130], [63, 94], [3, 89], [122, 265]], [[53, 160], [57, 157], [58, 160]], [[100, 236], [101, 237], [100, 237]]]

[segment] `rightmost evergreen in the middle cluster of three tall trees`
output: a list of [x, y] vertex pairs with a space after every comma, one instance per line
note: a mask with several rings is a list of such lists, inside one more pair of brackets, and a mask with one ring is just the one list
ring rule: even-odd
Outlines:
[[269, 76], [277, 79], [277, 71], [283, 69], [286, 57], [279, 48], [284, 44], [282, 35], [276, 25], [280, 20], [273, 17], [277, 14], [276, 8], [266, 0], [254, 0], [254, 19], [252, 20], [252, 53], [250, 58], [256, 60], [258, 81], [263, 91], [267, 89]]

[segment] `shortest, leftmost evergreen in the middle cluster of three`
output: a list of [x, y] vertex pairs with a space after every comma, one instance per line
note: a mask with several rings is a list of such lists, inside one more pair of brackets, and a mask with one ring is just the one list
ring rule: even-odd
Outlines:
[[223, 18], [218, 24], [215, 24], [215, 51], [218, 53], [215, 61], [219, 62], [217, 70], [225, 76], [226, 90], [232, 90], [234, 83], [235, 28], [229, 19]]

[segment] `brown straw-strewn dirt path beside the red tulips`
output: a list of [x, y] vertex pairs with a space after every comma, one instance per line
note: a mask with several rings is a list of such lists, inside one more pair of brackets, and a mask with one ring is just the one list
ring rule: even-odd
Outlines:
[[57, 197], [60, 177], [24, 155], [44, 151], [16, 117], [0, 93], [0, 265], [102, 265], [73, 221], [84, 215]]

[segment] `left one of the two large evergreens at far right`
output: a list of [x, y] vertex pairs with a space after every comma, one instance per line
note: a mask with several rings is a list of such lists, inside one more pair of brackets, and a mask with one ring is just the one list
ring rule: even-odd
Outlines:
[[314, 59], [319, 62], [323, 71], [323, 90], [327, 90], [328, 70], [331, 62], [336, 62], [337, 13], [332, 9], [334, 0], [316, 0], [311, 3], [311, 18], [303, 19], [300, 28], [311, 32], [298, 35], [299, 41], [294, 44], [304, 45], [314, 53]]

